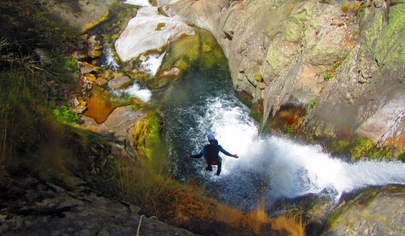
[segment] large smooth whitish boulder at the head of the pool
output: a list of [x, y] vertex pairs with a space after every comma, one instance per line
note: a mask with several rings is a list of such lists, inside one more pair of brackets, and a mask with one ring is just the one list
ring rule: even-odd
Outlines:
[[[158, 23], [165, 25], [156, 30]], [[115, 41], [119, 58], [126, 62], [139, 57], [142, 52], [159, 49], [180, 38], [180, 35], [193, 35], [194, 28], [178, 18], [158, 14], [158, 7], [145, 6], [139, 9], [129, 21], [124, 31]]]

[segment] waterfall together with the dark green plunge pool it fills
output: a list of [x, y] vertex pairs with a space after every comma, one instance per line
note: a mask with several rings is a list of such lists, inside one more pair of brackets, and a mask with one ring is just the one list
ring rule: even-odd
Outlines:
[[[175, 88], [175, 105], [168, 106], [165, 113], [178, 178], [200, 179], [220, 201], [247, 210], [263, 199], [271, 203], [315, 193], [338, 200], [342, 193], [365, 186], [405, 184], [405, 164], [401, 162], [349, 164], [323, 152], [319, 145], [259, 137], [249, 109], [232, 95], [227, 77], [225, 69], [192, 69], [185, 75], [185, 84]], [[178, 94], [184, 97], [178, 98]], [[220, 176], [205, 171], [203, 158], [184, 157], [200, 151], [207, 143], [207, 133], [214, 133], [228, 152], [239, 154], [239, 159], [222, 154]]]

